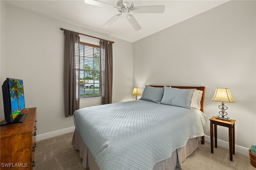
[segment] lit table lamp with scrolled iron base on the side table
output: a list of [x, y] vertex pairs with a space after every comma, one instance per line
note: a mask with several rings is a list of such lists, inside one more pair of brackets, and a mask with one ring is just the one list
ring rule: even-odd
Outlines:
[[226, 110], [228, 109], [228, 107], [226, 107], [224, 104], [224, 102], [229, 102], [229, 103], [234, 103], [236, 102], [231, 93], [229, 88], [216, 88], [215, 94], [212, 97], [213, 101], [221, 101], [222, 104], [219, 106], [220, 111], [219, 114], [216, 119], [222, 119], [222, 120], [226, 120], [226, 121], [231, 121], [231, 119], [229, 119], [229, 117], [227, 117], [228, 113], [226, 113]]

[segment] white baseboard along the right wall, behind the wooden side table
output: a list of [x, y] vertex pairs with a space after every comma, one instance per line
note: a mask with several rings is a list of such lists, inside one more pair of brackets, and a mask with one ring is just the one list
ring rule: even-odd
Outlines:
[[[210, 143], [211, 142], [210, 136], [205, 135], [205, 141]], [[229, 143], [228, 142], [226, 142], [224, 140], [220, 140], [220, 139], [217, 139], [217, 142], [218, 142], [218, 146], [229, 149]], [[249, 156], [248, 150], [249, 150], [248, 148], [245, 148], [243, 146], [239, 146], [239, 145], [235, 144], [235, 152], [238, 152], [238, 153], [243, 154], [245, 156]]]

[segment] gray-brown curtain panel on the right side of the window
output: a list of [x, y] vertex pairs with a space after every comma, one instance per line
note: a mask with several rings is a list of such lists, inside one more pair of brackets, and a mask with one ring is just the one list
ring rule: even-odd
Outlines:
[[102, 105], [112, 103], [112, 42], [100, 40]]

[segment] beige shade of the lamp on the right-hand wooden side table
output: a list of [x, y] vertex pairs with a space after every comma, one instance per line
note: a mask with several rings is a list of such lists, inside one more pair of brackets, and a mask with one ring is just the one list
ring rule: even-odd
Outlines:
[[222, 101], [222, 102], [229, 102], [234, 103], [236, 102], [231, 93], [229, 88], [216, 88], [215, 94], [212, 97], [213, 101]]

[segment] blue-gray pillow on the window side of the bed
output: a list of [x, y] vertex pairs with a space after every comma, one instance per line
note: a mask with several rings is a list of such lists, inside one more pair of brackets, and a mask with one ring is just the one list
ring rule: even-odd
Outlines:
[[160, 103], [164, 93], [164, 87], [152, 87], [145, 85], [145, 89], [142, 93], [140, 100], [148, 100], [156, 103]]

